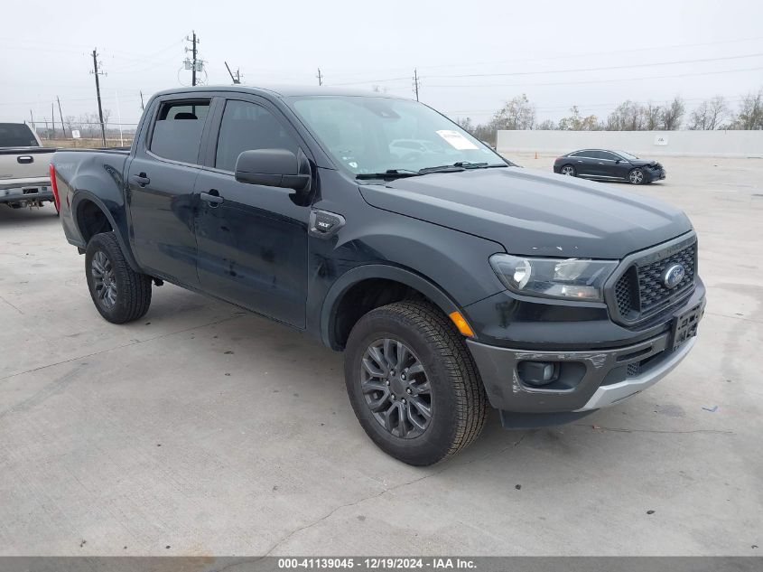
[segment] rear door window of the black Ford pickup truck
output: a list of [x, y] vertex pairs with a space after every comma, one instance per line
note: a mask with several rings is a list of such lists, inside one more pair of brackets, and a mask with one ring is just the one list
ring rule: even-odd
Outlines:
[[209, 99], [163, 103], [149, 149], [164, 159], [198, 164], [201, 132], [208, 113]]

